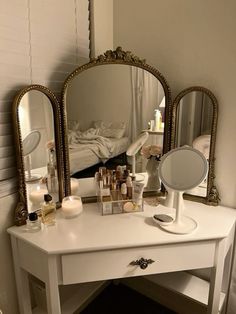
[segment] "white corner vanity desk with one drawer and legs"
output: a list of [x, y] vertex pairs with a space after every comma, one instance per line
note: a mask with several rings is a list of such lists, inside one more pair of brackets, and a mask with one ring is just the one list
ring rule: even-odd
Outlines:
[[[74, 219], [62, 218], [58, 210], [56, 226], [36, 233], [24, 232], [24, 226], [9, 228], [21, 313], [32, 313], [28, 273], [45, 282], [48, 313], [59, 314], [58, 285], [207, 267], [213, 270], [207, 313], [218, 313], [221, 284], [230, 273], [227, 263], [223, 278], [224, 259], [233, 247], [236, 211], [189, 201], [185, 207], [185, 214], [198, 222], [197, 230], [188, 235], [159, 229], [152, 216], [164, 207], [149, 205], [144, 212], [102, 216], [96, 204], [86, 204]], [[129, 265], [142, 257], [155, 262], [146, 269]]]

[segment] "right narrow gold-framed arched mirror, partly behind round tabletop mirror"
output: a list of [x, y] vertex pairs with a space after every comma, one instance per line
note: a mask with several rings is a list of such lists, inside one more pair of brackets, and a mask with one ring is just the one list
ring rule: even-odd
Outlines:
[[206, 157], [209, 166], [207, 178], [184, 196], [208, 205], [218, 205], [220, 200], [214, 182], [217, 117], [217, 99], [205, 87], [186, 88], [174, 99], [171, 148], [191, 146]]

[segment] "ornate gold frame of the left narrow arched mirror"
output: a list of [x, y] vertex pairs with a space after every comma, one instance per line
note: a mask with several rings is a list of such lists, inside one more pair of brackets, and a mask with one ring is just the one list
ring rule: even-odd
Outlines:
[[23, 160], [23, 148], [22, 148], [22, 138], [19, 120], [19, 105], [23, 96], [29, 91], [36, 90], [43, 93], [51, 102], [53, 118], [54, 118], [54, 132], [55, 132], [55, 147], [56, 147], [56, 158], [58, 165], [58, 188], [59, 188], [59, 202], [63, 198], [63, 151], [62, 147], [62, 128], [60, 119], [60, 106], [56, 96], [53, 92], [42, 85], [30, 85], [21, 89], [14, 98], [13, 102], [13, 130], [15, 138], [15, 149], [17, 158], [17, 174], [19, 178], [19, 201], [15, 209], [15, 225], [20, 226], [26, 223], [28, 215], [28, 205], [27, 205], [27, 193], [26, 193], [26, 182], [25, 182], [25, 167]]

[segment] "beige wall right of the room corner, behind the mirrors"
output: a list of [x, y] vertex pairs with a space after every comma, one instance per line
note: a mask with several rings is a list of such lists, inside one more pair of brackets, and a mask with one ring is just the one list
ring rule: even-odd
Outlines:
[[192, 85], [219, 101], [216, 183], [222, 204], [236, 206], [236, 1], [114, 0], [114, 47], [157, 67], [173, 96]]

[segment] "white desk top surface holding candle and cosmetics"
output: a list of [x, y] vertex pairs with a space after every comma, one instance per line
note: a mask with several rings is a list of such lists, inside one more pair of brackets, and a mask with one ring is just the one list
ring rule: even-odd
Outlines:
[[83, 213], [73, 219], [64, 219], [58, 210], [56, 225], [35, 233], [26, 232], [25, 226], [13, 226], [8, 232], [48, 254], [221, 239], [229, 234], [236, 210], [184, 202], [185, 215], [198, 222], [198, 228], [187, 235], [167, 233], [153, 222], [154, 214], [173, 212], [162, 205], [145, 204], [143, 212], [102, 216], [96, 203], [84, 204]]

